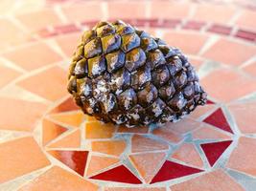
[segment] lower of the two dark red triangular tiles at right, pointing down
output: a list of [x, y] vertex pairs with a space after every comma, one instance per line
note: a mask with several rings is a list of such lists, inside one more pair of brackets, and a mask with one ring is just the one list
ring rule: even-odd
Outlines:
[[221, 157], [222, 153], [231, 144], [232, 140], [226, 140], [221, 142], [211, 142], [201, 144], [201, 148], [208, 159], [211, 166]]

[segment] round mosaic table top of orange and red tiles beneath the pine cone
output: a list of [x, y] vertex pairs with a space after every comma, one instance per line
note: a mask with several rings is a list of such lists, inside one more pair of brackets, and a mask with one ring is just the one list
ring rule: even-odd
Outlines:
[[[256, 190], [255, 1], [2, 0], [0, 12], [0, 190]], [[70, 55], [115, 19], [186, 53], [206, 106], [157, 129], [84, 116], [66, 91]]]

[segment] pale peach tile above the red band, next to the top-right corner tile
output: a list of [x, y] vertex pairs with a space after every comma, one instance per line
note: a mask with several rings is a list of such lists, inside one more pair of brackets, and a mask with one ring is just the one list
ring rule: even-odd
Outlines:
[[200, 4], [192, 18], [198, 21], [226, 24], [235, 12], [236, 9], [231, 6]]

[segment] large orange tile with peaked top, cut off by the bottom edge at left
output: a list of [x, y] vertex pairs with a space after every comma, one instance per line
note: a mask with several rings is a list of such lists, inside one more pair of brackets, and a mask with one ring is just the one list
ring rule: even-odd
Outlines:
[[36, 190], [98, 190], [98, 186], [94, 183], [84, 180], [81, 177], [70, 173], [58, 166], [54, 166], [37, 179], [24, 185], [21, 191]]

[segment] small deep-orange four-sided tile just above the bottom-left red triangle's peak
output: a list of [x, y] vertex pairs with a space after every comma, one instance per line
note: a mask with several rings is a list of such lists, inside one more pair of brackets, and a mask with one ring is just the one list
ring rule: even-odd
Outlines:
[[104, 140], [91, 143], [92, 151], [113, 156], [120, 156], [126, 147], [127, 143], [125, 140]]

